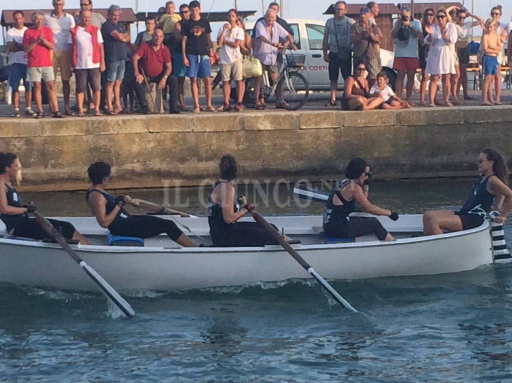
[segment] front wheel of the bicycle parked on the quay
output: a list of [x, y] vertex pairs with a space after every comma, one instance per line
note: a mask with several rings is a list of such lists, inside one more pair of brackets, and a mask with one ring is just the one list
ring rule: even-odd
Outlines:
[[285, 73], [275, 88], [275, 97], [287, 110], [302, 108], [309, 97], [308, 80], [298, 72]]

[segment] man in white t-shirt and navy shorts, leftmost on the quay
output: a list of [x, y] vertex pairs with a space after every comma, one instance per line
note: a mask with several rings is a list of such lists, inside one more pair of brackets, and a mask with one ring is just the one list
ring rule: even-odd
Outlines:
[[28, 29], [25, 27], [25, 16], [22, 11], [14, 11], [12, 14], [14, 26], [7, 30], [5, 41], [7, 43], [8, 60], [10, 65], [9, 86], [12, 89], [12, 104], [14, 117], [19, 117], [19, 82], [23, 79], [25, 87], [25, 116], [34, 117], [32, 110], [32, 84], [27, 81], [27, 54], [23, 47], [23, 35]]

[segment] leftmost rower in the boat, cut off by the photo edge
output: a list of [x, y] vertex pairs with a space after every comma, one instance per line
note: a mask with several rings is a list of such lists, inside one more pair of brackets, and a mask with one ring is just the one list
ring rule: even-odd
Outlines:
[[[41, 228], [35, 218], [28, 216], [36, 208], [32, 203], [22, 205], [16, 189], [12, 187], [11, 179], [15, 178], [21, 169], [19, 159], [14, 153], [0, 153], [0, 219], [4, 221], [7, 232], [16, 237], [43, 239], [48, 233]], [[75, 227], [66, 221], [48, 219], [51, 224], [67, 239], [75, 239], [81, 244], [89, 244]]]

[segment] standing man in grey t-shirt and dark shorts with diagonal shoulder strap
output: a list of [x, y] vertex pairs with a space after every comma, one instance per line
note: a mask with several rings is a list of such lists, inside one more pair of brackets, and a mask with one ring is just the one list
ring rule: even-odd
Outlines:
[[345, 80], [352, 74], [352, 51], [350, 49], [350, 27], [355, 20], [345, 17], [347, 3], [337, 1], [334, 5], [334, 17], [325, 23], [324, 60], [329, 63], [329, 80], [331, 82], [331, 100], [326, 106], [336, 106], [338, 77], [341, 71]]

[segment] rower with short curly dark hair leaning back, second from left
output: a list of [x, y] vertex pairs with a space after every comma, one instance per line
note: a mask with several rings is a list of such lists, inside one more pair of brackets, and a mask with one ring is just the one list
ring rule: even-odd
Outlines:
[[128, 237], [151, 238], [165, 233], [182, 246], [196, 246], [171, 220], [151, 215], [130, 215], [124, 209], [124, 205], [132, 201], [129, 195], [114, 197], [105, 191], [111, 173], [109, 164], [95, 162], [87, 172], [92, 185], [86, 200], [99, 226], [108, 228], [114, 235]]

